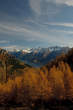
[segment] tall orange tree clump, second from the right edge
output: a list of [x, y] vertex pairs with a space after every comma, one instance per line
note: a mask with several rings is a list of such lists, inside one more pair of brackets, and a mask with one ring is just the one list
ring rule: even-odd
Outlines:
[[65, 89], [63, 82], [63, 73], [55, 66], [50, 70], [49, 81], [52, 88], [53, 98], [64, 99]]

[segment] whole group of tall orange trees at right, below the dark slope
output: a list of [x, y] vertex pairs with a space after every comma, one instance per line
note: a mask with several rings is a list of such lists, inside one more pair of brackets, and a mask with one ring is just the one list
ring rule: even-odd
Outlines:
[[50, 70], [49, 80], [55, 98], [73, 98], [73, 73], [68, 64], [59, 62], [58, 67], [53, 66]]

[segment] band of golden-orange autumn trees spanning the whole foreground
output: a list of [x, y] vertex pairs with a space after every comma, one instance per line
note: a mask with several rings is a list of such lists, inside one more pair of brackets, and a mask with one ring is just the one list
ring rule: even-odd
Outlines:
[[[29, 100], [73, 98], [73, 73], [68, 64], [60, 62], [49, 72], [31, 68], [22, 76], [0, 84], [0, 104], [24, 104]], [[47, 70], [46, 70], [47, 71]]]

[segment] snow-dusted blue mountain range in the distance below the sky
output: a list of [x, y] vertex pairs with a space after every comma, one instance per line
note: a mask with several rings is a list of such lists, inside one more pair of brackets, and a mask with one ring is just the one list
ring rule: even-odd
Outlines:
[[33, 67], [41, 67], [49, 61], [54, 60], [61, 54], [66, 54], [70, 50], [69, 47], [49, 47], [49, 48], [34, 48], [20, 51], [12, 51], [9, 54], [14, 55], [19, 60]]

